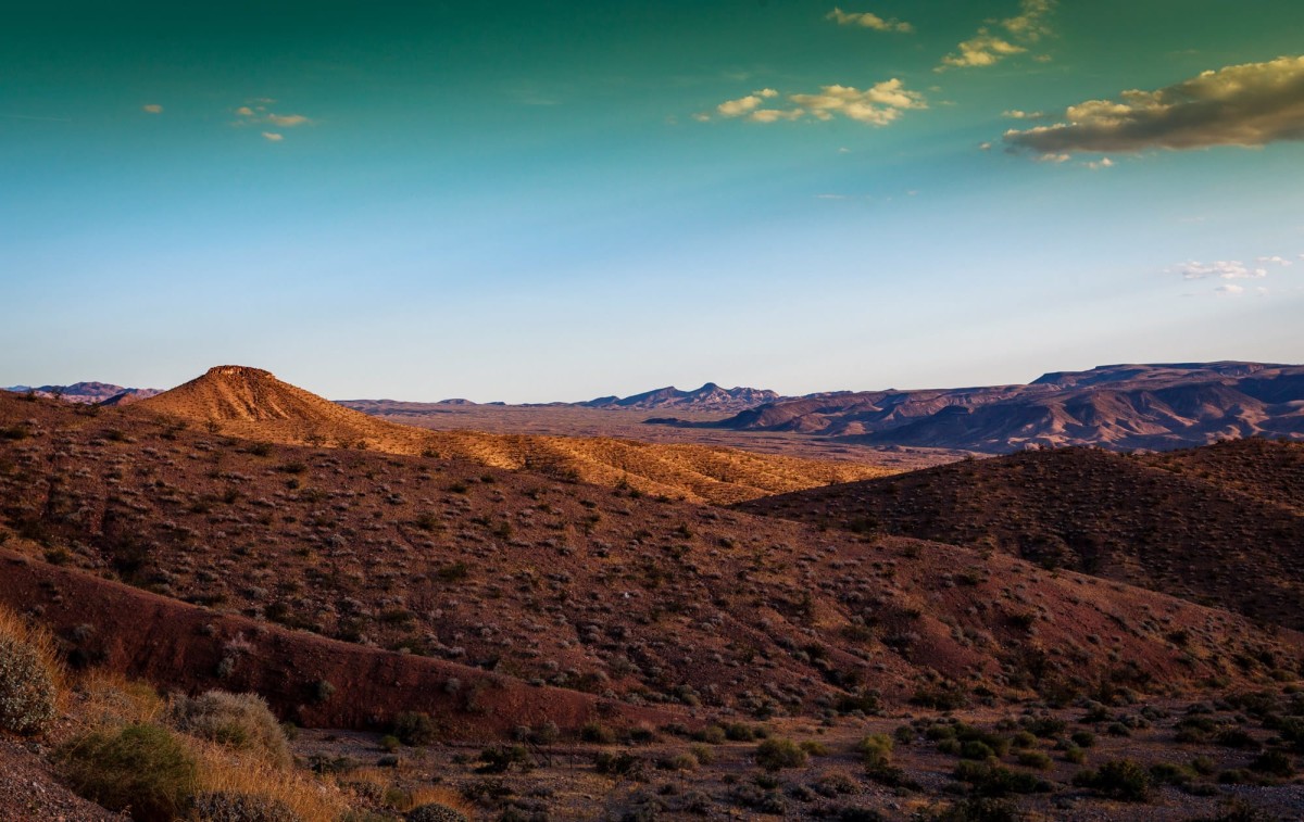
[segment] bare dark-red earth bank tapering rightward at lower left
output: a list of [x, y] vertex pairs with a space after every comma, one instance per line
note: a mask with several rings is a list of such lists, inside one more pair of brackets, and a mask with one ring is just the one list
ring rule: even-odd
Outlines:
[[[532, 688], [456, 663], [214, 612], [12, 551], [0, 550], [0, 602], [39, 612], [73, 659], [188, 693], [250, 690], [310, 727], [383, 728], [402, 711], [429, 713], [450, 739], [544, 720], [570, 731], [599, 719], [618, 727], [692, 723], [679, 713]], [[321, 698], [321, 683], [330, 683], [331, 696]]]

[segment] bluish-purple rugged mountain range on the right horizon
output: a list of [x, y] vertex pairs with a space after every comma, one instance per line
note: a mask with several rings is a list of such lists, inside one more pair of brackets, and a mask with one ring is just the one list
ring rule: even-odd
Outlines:
[[1260, 362], [1108, 365], [1026, 386], [863, 391], [777, 400], [717, 422], [872, 446], [1004, 453], [1028, 447], [1171, 449], [1219, 439], [1304, 439], [1304, 366]]

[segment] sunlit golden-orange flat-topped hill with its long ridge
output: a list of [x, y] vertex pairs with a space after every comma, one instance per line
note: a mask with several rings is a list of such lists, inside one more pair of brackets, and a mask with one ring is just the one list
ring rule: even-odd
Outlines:
[[284, 383], [261, 369], [216, 366], [136, 404], [211, 432], [274, 443], [326, 444], [400, 455], [467, 459], [645, 494], [733, 503], [831, 482], [882, 477], [885, 469], [759, 455], [732, 448], [570, 438], [428, 431], [369, 417]]

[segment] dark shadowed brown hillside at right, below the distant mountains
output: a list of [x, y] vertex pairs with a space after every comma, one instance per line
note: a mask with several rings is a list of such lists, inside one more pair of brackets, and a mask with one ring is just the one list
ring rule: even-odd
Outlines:
[[1304, 446], [1028, 451], [739, 508], [986, 546], [1304, 627]]

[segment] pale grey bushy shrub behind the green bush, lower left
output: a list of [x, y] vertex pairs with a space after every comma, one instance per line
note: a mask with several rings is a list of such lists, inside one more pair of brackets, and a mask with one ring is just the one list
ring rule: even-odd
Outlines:
[[194, 698], [180, 696], [167, 718], [192, 736], [246, 750], [279, 767], [293, 763], [286, 731], [258, 694], [209, 690]]

